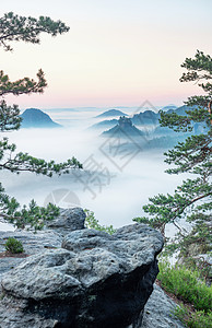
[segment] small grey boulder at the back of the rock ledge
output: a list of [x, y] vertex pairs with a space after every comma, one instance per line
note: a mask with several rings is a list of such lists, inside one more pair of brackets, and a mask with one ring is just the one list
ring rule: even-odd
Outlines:
[[47, 229], [66, 235], [71, 231], [84, 229], [85, 218], [85, 212], [81, 208], [61, 209], [59, 218], [48, 222]]

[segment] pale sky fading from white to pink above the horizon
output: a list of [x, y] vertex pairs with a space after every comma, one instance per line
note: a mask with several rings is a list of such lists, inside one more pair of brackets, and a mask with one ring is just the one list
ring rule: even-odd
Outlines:
[[70, 26], [39, 46], [0, 49], [0, 69], [11, 79], [46, 73], [43, 95], [7, 97], [20, 108], [181, 105], [199, 87], [179, 82], [180, 63], [197, 49], [212, 54], [211, 0], [1, 0], [0, 10]]

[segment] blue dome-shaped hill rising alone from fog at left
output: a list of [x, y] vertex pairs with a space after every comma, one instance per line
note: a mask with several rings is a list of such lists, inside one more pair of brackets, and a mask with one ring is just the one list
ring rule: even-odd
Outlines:
[[50, 116], [37, 108], [28, 108], [22, 115], [21, 128], [59, 128]]

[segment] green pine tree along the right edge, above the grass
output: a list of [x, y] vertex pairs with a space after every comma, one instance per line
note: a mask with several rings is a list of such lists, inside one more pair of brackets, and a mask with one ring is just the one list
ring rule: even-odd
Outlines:
[[[197, 51], [195, 59], [186, 58], [181, 65], [187, 72], [180, 82], [193, 81], [203, 90], [204, 95], [191, 96], [186, 102], [189, 106], [186, 115], [161, 112], [161, 126], [175, 131], [192, 131], [195, 124], [201, 126], [202, 132], [191, 134], [185, 142], [179, 142], [173, 150], [165, 153], [165, 162], [175, 166], [168, 174], [189, 173], [196, 178], [187, 179], [178, 186], [174, 195], [157, 195], [150, 198], [143, 207], [148, 216], [136, 218], [134, 221], [149, 223], [165, 235], [165, 226], [173, 223], [178, 229], [175, 243], [167, 248], [180, 250], [180, 256], [188, 255], [190, 244], [196, 244], [198, 253], [211, 249], [211, 137], [212, 137], [212, 58]], [[190, 230], [180, 226], [180, 219], [190, 223]]]

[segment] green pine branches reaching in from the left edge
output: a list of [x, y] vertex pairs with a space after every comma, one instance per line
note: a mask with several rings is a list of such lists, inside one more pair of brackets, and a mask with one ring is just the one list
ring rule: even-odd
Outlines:
[[[12, 12], [4, 14], [0, 19], [0, 46], [4, 50], [11, 51], [11, 42], [26, 42], [39, 44], [39, 35], [42, 33], [56, 36], [69, 31], [61, 21], [52, 21], [50, 17], [40, 16], [38, 20], [34, 17], [25, 17], [15, 15]], [[17, 130], [21, 126], [20, 109], [17, 105], [8, 106], [3, 98], [8, 94], [22, 95], [32, 93], [43, 93], [47, 86], [47, 82], [43, 70], [37, 73], [37, 81], [30, 78], [23, 78], [17, 81], [10, 81], [9, 77], [0, 71], [0, 130], [12, 131]], [[61, 175], [69, 173], [70, 168], [82, 168], [80, 162], [72, 157], [64, 163], [55, 163], [55, 161], [46, 162], [36, 159], [27, 153], [16, 153], [15, 144], [10, 143], [8, 138], [0, 141], [0, 169], [10, 171], [12, 173], [33, 172], [51, 177], [54, 173]], [[47, 208], [38, 207], [34, 200], [30, 206], [20, 208], [19, 202], [14, 198], [10, 198], [0, 184], [0, 218], [3, 218], [17, 227], [24, 227], [30, 224], [35, 230], [44, 225], [45, 220], [51, 220], [59, 214], [59, 209], [52, 204]]]

